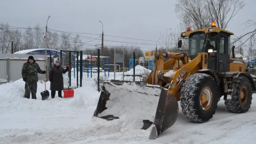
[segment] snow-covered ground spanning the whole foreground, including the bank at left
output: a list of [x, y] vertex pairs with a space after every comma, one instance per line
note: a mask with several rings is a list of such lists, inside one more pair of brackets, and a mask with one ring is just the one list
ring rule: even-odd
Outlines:
[[38, 82], [38, 99], [32, 100], [22, 98], [22, 80], [0, 85], [0, 144], [253, 144], [256, 140], [255, 94], [248, 112], [226, 112], [220, 100], [214, 117], [202, 124], [190, 122], [180, 108], [176, 123], [148, 140], [150, 129], [140, 130], [131, 120], [92, 117], [100, 93], [90, 86], [75, 89], [74, 98], [45, 101], [40, 98], [43, 90], [44, 84]]

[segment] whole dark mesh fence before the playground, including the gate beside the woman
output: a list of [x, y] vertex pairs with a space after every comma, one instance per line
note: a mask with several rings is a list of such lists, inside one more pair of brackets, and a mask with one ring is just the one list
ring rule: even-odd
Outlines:
[[104, 48], [103, 52], [100, 49], [64, 51], [66, 56], [61, 58], [62, 66], [72, 67], [63, 75], [64, 88], [89, 85], [101, 90], [104, 81], [146, 82], [154, 68], [155, 51], [143, 53], [119, 47]]

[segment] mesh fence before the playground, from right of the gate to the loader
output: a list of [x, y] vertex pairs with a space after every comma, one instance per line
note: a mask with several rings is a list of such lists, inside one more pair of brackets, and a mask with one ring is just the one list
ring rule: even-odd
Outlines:
[[124, 49], [108, 48], [103, 52], [100, 49], [86, 49], [82, 51], [80, 60], [83, 70], [80, 83], [100, 90], [104, 81], [146, 81], [150, 73], [146, 68], [148, 62], [137, 57], [135, 52], [125, 53]]

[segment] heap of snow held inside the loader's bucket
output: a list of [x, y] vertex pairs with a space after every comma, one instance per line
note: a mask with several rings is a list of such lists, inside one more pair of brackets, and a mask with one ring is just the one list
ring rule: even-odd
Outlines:
[[143, 127], [142, 120], [154, 121], [160, 96], [160, 88], [138, 86], [124, 83], [121, 86], [105, 84], [110, 97], [106, 102], [106, 110], [98, 116], [113, 115], [120, 119], [113, 121], [129, 121], [133, 130]]

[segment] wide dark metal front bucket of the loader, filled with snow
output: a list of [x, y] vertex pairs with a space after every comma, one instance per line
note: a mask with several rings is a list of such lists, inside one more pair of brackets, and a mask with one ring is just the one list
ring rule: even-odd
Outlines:
[[176, 122], [177, 108], [175, 97], [167, 97], [167, 90], [160, 86], [111, 80], [103, 84], [94, 116], [105, 120], [125, 116], [128, 120], [143, 122], [140, 126], [143, 130], [150, 128], [154, 122], [150, 133], [150, 138], [154, 139]]

